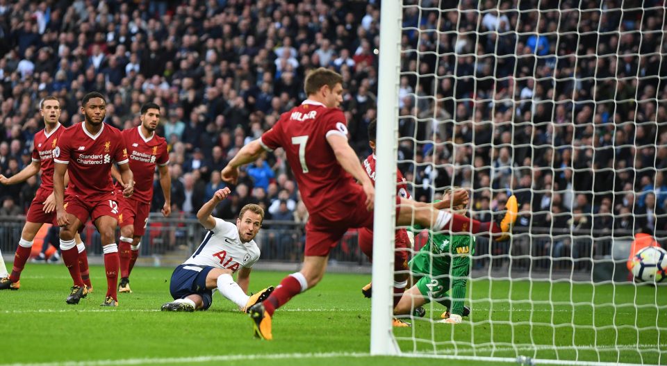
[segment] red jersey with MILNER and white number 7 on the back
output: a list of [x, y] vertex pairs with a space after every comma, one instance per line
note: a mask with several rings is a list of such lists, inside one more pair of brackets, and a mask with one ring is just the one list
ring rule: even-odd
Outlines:
[[282, 147], [294, 172], [308, 212], [317, 213], [332, 201], [349, 200], [356, 182], [338, 164], [327, 142], [331, 134], [347, 138], [347, 120], [338, 108], [306, 100], [283, 113], [260, 143], [269, 151]]

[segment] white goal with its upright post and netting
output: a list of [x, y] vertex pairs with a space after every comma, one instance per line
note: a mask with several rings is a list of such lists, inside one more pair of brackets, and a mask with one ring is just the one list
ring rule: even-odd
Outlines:
[[[481, 222], [511, 194], [520, 213], [511, 240], [475, 235], [463, 298], [452, 286], [404, 328], [389, 325], [393, 258], [377, 248], [393, 233], [376, 229], [372, 353], [667, 363], [667, 286], [627, 264], [667, 244], [665, 13], [657, 0], [382, 2], [376, 228], [393, 227], [396, 165], [416, 201], [456, 186]], [[411, 256], [437, 240], [415, 231]], [[430, 258], [449, 272], [415, 282], [461, 285], [455, 255]], [[457, 301], [470, 315], [443, 323]]]

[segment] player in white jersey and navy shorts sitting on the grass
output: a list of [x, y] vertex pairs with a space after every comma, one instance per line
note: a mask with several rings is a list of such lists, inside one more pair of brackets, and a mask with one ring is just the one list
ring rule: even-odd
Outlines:
[[[174, 269], [169, 290], [174, 301], [165, 303], [163, 311], [195, 311], [211, 307], [213, 289], [245, 311], [264, 301], [273, 292], [269, 287], [248, 296], [250, 271], [259, 259], [259, 248], [253, 240], [264, 219], [264, 210], [249, 204], [241, 208], [236, 225], [211, 216], [213, 209], [231, 191], [222, 188], [204, 203], [197, 219], [207, 230], [204, 241], [188, 260]], [[231, 276], [238, 271], [236, 282]]]

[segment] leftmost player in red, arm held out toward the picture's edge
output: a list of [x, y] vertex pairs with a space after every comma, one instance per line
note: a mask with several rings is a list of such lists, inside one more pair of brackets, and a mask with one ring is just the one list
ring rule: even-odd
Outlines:
[[[33, 239], [43, 224], [57, 224], [56, 222], [56, 199], [53, 197], [53, 148], [56, 147], [58, 138], [65, 131], [65, 126], [58, 122], [60, 118], [60, 102], [58, 98], [49, 96], [40, 102], [40, 114], [44, 117], [44, 129], [35, 133], [33, 142], [33, 162], [26, 166], [19, 174], [7, 178], [0, 174], [0, 183], [4, 185], [16, 184], [42, 171], [42, 184], [35, 194], [35, 198], [28, 208], [26, 224], [23, 226], [21, 240], [16, 248], [14, 266], [12, 273], [0, 278], [0, 290], [18, 290], [21, 287], [19, 278], [23, 271], [30, 252], [33, 247]], [[88, 288], [88, 259], [85, 256], [85, 246], [81, 242], [79, 233], [75, 235], [76, 248], [80, 253], [79, 269], [85, 273], [85, 285]], [[85, 282], [85, 281], [84, 281]]]

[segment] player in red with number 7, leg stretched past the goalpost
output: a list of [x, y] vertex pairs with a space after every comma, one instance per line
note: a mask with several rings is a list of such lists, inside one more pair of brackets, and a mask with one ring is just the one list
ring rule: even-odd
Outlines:
[[[347, 121], [337, 108], [343, 101], [343, 77], [320, 67], [306, 76], [305, 91], [308, 99], [301, 106], [283, 113], [272, 129], [242, 147], [222, 170], [223, 179], [235, 183], [238, 167], [251, 163], [264, 150], [282, 147], [310, 215], [301, 271], [283, 278], [268, 299], [250, 308], [255, 335], [265, 340], [272, 339], [274, 311], [322, 279], [329, 251], [347, 229], [372, 228], [373, 224], [369, 212], [374, 206], [373, 183], [347, 143]], [[427, 203], [401, 197], [396, 201], [397, 224], [416, 222], [436, 231], [491, 231], [502, 235], [516, 220], [516, 200], [500, 226], [476, 222]]]

